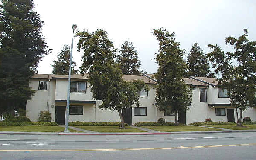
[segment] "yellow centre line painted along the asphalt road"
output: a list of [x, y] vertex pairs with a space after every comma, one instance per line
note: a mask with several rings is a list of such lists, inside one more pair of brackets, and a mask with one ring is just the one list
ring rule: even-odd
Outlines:
[[191, 147], [170, 147], [170, 148], [123, 148], [123, 149], [25, 149], [25, 150], [0, 150], [0, 151], [137, 151], [137, 150], [157, 150], [157, 149], [183, 149], [183, 148], [210, 148], [210, 147], [233, 147], [233, 146], [246, 146], [256, 145], [238, 144], [238, 145], [204, 145], [204, 146], [191, 146]]

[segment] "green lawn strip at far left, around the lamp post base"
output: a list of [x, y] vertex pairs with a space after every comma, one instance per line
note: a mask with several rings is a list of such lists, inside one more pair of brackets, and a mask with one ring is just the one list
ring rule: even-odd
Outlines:
[[[20, 132], [63, 132], [64, 127], [44, 126], [44, 125], [23, 125], [23, 126], [0, 126], [0, 131], [20, 131]], [[70, 132], [78, 132], [70, 129]]]

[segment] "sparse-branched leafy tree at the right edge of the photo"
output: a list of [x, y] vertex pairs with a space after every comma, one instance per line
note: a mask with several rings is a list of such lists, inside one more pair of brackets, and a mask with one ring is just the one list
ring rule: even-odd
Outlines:
[[[225, 53], [218, 45], [208, 45], [213, 49], [207, 55], [209, 61], [213, 63], [215, 73], [222, 75], [217, 79], [218, 85], [227, 88], [230, 105], [236, 108], [237, 126], [242, 126], [243, 111], [256, 102], [256, 41], [249, 41], [247, 34], [247, 29], [244, 29], [244, 35], [239, 38], [226, 38], [226, 44], [234, 46], [233, 53]], [[236, 66], [233, 60], [236, 60]]]

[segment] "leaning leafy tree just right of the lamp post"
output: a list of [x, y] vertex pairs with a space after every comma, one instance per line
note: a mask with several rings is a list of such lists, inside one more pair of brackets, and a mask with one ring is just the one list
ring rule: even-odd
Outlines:
[[123, 108], [132, 108], [134, 104], [139, 107], [137, 92], [148, 90], [143, 81], [124, 81], [122, 71], [114, 61], [117, 49], [114, 47], [108, 32], [98, 29], [93, 33], [87, 31], [77, 32], [79, 37], [78, 50], [84, 49], [82, 56], [81, 73], [89, 71], [89, 83], [94, 98], [100, 94], [103, 103], [100, 109], [117, 110], [121, 120], [120, 128], [125, 128], [122, 115]]

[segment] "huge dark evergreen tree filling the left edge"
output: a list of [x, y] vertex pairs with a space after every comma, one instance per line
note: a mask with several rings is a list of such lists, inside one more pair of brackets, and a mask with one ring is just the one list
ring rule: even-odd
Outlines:
[[35, 93], [28, 87], [29, 77], [50, 50], [32, 0], [2, 0], [0, 8], [0, 110], [13, 113], [26, 108]]

